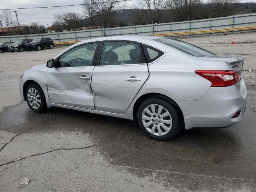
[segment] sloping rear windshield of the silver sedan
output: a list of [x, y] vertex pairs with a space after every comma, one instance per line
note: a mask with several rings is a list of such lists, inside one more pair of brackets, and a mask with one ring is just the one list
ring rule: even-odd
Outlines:
[[215, 55], [214, 53], [198, 46], [172, 38], [158, 38], [154, 40], [196, 57]]

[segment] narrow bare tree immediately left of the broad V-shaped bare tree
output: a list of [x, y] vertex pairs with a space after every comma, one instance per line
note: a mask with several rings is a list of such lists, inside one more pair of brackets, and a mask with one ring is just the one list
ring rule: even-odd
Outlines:
[[83, 7], [84, 7], [84, 15], [85, 17], [89, 18], [90, 25], [94, 29], [95, 22], [96, 22], [96, 5], [94, 4], [93, 0], [84, 0], [83, 1]]

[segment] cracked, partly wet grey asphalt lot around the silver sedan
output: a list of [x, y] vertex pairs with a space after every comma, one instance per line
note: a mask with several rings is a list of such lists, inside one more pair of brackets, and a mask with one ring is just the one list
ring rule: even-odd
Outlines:
[[20, 73], [66, 47], [0, 54], [0, 191], [256, 191], [256, 33], [183, 40], [246, 56], [248, 103], [230, 128], [182, 131], [168, 142], [129, 120], [62, 108], [37, 114], [20, 101]]

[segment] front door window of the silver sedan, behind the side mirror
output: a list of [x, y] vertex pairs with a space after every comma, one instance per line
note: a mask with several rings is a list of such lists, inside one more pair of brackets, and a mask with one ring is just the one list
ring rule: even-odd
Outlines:
[[81, 45], [69, 50], [58, 60], [58, 67], [92, 66], [98, 43]]

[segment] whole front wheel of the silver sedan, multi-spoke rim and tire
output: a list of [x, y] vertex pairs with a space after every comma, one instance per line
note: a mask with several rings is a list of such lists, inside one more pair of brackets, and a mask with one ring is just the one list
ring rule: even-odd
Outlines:
[[44, 93], [40, 87], [36, 84], [30, 84], [26, 89], [26, 100], [28, 106], [34, 112], [43, 112], [47, 106], [44, 97]]

